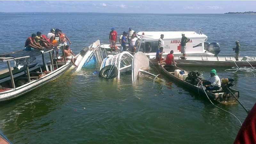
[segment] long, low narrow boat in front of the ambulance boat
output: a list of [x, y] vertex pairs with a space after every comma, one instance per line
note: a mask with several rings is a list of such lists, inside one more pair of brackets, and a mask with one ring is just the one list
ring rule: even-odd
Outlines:
[[[256, 67], [256, 57], [240, 57], [236, 61], [235, 57], [186, 57], [181, 60], [180, 56], [174, 55], [174, 60], [178, 66], [188, 67]], [[158, 65], [156, 59], [150, 59], [154, 65]], [[237, 66], [236, 66], [237, 65]]]

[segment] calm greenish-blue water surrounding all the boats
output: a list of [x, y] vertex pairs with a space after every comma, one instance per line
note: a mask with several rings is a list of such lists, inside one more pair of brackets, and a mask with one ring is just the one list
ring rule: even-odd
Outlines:
[[[220, 43], [220, 55], [233, 56], [232, 47], [239, 40], [241, 55], [255, 56], [255, 15], [0, 13], [0, 19], [0, 53], [20, 50], [31, 33], [47, 34], [51, 28], [66, 33], [77, 53], [97, 39], [107, 43], [111, 27], [119, 34], [132, 27], [135, 31], [197, 32], [201, 28], [209, 42]], [[92, 75], [98, 69], [99, 65], [91, 65], [78, 73], [67, 72], [18, 99], [0, 103], [0, 129], [15, 144], [233, 143], [239, 122], [198, 93], [168, 79], [141, 78], [132, 85], [127, 74], [120, 82], [103, 80]], [[199, 70], [207, 77], [211, 69]], [[216, 69], [221, 78], [235, 78], [240, 100], [251, 109], [256, 101], [253, 75]], [[242, 122], [246, 117], [238, 104], [218, 106]]]

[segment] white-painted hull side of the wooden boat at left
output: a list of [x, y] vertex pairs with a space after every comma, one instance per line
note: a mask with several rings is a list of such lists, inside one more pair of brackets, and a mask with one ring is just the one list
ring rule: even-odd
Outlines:
[[10, 89], [8, 91], [0, 92], [0, 101], [11, 100], [27, 92], [30, 92], [48, 82], [51, 82], [56, 78], [60, 77], [62, 74], [64, 74], [68, 70], [68, 68], [70, 68], [71, 66], [72, 66], [72, 63], [68, 61], [65, 65], [45, 75], [44, 77], [31, 81], [15, 89]]

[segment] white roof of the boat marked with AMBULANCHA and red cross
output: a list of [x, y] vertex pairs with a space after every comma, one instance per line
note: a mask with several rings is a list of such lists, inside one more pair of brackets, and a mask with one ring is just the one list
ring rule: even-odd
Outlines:
[[159, 39], [161, 34], [164, 34], [164, 39], [177, 39], [181, 38], [181, 34], [184, 33], [185, 36], [188, 38], [207, 38], [204, 34], [198, 34], [194, 31], [140, 31], [138, 32], [139, 35], [144, 33], [143, 39], [145, 40], [152, 40], [152, 39]]

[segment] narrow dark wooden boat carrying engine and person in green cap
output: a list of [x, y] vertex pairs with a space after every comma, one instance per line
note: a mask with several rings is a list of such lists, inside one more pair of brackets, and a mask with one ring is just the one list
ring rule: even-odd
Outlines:
[[[197, 77], [197, 81], [194, 84], [191, 84], [188, 82], [188, 80], [184, 80], [182, 78], [179, 78], [177, 76], [174, 75], [174, 71], [175, 69], [180, 69], [176, 66], [169, 66], [169, 65], [165, 65], [165, 64], [159, 64], [159, 68], [161, 69], [161, 71], [164, 73], [165, 76], [169, 77], [170, 79], [172, 79], [174, 82], [176, 82], [177, 84], [183, 86], [184, 88], [194, 91], [194, 92], [199, 92], [200, 95], [204, 95], [206, 97], [205, 92], [207, 93], [208, 97], [211, 100], [217, 101], [219, 103], [222, 104], [226, 104], [229, 102], [235, 102], [236, 99], [231, 95], [231, 93], [224, 91], [222, 89], [217, 90], [217, 91], [207, 91], [200, 86], [197, 86], [198, 82], [200, 80], [202, 80], [201, 77]], [[182, 69], [180, 69], [182, 70]], [[200, 85], [200, 84], [199, 84]], [[239, 98], [239, 91], [234, 90], [232, 88], [229, 88], [231, 90], [232, 93], [234, 93], [234, 95], [236, 96], [236, 98]]]

